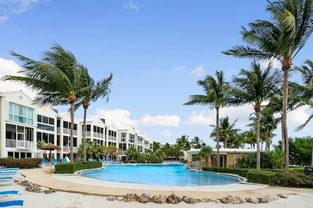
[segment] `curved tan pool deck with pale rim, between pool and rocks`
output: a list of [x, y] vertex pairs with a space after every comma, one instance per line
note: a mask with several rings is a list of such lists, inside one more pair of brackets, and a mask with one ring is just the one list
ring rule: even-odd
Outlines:
[[[162, 194], [175, 194], [179, 197], [184, 195], [201, 199], [214, 198], [221, 199], [226, 195], [242, 196], [248, 198], [250, 196], [263, 197], [266, 194], [301, 194], [313, 193], [313, 189], [295, 189], [270, 187], [256, 184], [231, 184], [222, 186], [150, 186], [139, 184], [126, 184], [98, 181], [79, 175], [49, 175], [44, 172], [44, 168], [21, 170], [21, 174], [26, 180], [31, 181], [40, 186], [57, 189], [72, 193], [81, 193], [85, 195], [98, 196], [125, 196], [128, 193], [136, 193], [140, 196], [142, 193], [148, 193], [151, 196]], [[112, 176], [113, 177], [113, 176]]]

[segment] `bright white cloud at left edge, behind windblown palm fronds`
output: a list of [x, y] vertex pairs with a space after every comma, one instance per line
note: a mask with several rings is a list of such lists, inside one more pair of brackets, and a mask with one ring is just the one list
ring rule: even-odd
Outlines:
[[[0, 58], [0, 77], [4, 75], [12, 75], [12, 76], [22, 76], [21, 74], [17, 74], [17, 71], [21, 67], [15, 63], [13, 60], [6, 60]], [[0, 81], [0, 91], [1, 92], [8, 92], [8, 91], [18, 91], [22, 90], [28, 96], [33, 98], [36, 93], [33, 92], [31, 89], [25, 87], [25, 85], [20, 84], [18, 82], [12, 81]]]

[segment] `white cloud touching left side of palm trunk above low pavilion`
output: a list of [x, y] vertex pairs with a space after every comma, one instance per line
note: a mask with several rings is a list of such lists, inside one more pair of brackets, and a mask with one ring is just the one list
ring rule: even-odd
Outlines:
[[184, 124], [189, 126], [193, 125], [214, 125], [215, 118], [214, 111], [201, 111], [200, 113], [192, 112], [192, 115], [189, 116], [188, 121], [185, 121]]

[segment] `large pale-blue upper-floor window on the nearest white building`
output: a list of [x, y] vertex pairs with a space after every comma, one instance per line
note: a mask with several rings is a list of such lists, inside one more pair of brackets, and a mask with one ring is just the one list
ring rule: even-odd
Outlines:
[[33, 125], [34, 110], [25, 106], [9, 103], [9, 121]]

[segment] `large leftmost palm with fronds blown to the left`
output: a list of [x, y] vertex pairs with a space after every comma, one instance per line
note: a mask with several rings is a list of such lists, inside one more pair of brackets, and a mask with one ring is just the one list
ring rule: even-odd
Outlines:
[[76, 57], [57, 43], [52, 44], [51, 51], [43, 52], [42, 61], [35, 61], [12, 51], [10, 54], [22, 61], [22, 68], [18, 74], [23, 76], [6, 75], [1, 80], [20, 82], [37, 91], [33, 100], [37, 106], [70, 105], [70, 161], [74, 161], [74, 103], [77, 95], [82, 95], [89, 88], [93, 88], [93, 86], [84, 87], [82, 80], [85, 73], [80, 70]]

